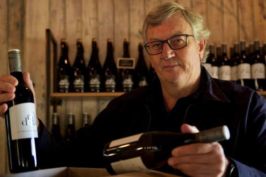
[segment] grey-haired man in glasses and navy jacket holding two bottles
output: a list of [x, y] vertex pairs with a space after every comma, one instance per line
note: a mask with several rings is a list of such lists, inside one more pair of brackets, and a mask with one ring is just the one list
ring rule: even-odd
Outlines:
[[[41, 166], [104, 167], [103, 146], [114, 139], [227, 125], [229, 140], [176, 147], [168, 165], [157, 170], [195, 177], [266, 176], [265, 99], [250, 88], [211, 78], [202, 66], [210, 34], [203, 24], [199, 14], [177, 3], [152, 9], [141, 33], [158, 78], [110, 101], [73, 141], [54, 145], [40, 121]], [[28, 73], [24, 80], [33, 89]], [[0, 78], [1, 116], [16, 84], [10, 75]]]

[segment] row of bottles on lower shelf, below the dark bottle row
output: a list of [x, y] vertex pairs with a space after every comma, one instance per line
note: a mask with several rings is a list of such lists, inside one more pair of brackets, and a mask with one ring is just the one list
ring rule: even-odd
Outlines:
[[[54, 112], [52, 114], [52, 130], [51, 134], [57, 143], [62, 141], [71, 140], [75, 138], [75, 115], [73, 113], [67, 114], [67, 127], [65, 130], [65, 135], [62, 136], [59, 124], [60, 116]], [[82, 127], [89, 126], [91, 124], [91, 117], [88, 113], [82, 114]]]

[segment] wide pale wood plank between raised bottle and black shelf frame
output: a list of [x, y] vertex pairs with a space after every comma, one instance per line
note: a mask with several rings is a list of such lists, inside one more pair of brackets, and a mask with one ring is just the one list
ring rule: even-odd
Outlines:
[[45, 98], [45, 29], [49, 27], [49, 1], [26, 0], [25, 17], [25, 71], [31, 73], [35, 83], [37, 116], [46, 124]]

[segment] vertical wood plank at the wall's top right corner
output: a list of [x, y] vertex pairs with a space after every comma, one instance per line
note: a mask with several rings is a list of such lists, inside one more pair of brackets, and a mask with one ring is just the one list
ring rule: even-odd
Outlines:
[[260, 40], [260, 44], [266, 42], [266, 1], [254, 0], [254, 40]]

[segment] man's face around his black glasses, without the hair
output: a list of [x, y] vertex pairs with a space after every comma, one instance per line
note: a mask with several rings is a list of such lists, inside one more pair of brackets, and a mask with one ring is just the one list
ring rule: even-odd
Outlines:
[[[180, 34], [193, 35], [192, 27], [182, 18], [175, 18], [159, 26], [148, 27], [147, 40], [163, 41]], [[184, 48], [172, 50], [164, 43], [160, 54], [149, 55], [160, 81], [171, 84], [186, 84], [189, 80], [198, 78], [200, 74], [200, 58], [204, 52], [204, 41], [197, 42], [193, 37], [188, 37], [188, 45]], [[203, 47], [203, 49], [202, 49]]]

